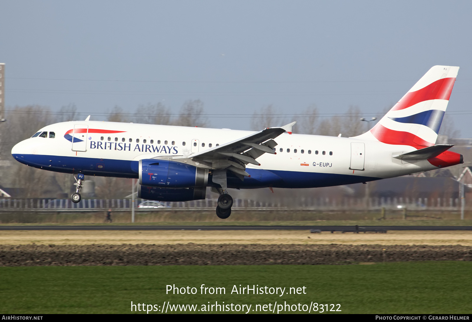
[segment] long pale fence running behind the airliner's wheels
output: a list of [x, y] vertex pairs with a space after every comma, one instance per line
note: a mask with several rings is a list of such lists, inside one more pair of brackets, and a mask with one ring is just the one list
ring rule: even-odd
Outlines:
[[[138, 208], [144, 199], [135, 200], [136, 211], [149, 211], [152, 208]], [[215, 199], [194, 200], [188, 202], [162, 202], [166, 208], [155, 208], [159, 210], [185, 210], [185, 209], [207, 209], [215, 208]], [[129, 210], [132, 206], [131, 199], [82, 199], [79, 203], [73, 203], [70, 199], [53, 198], [28, 198], [28, 199], [0, 199], [0, 211], [2, 210]], [[257, 201], [251, 199], [235, 199], [233, 209], [299, 209], [299, 210], [379, 210], [407, 208], [412, 211], [458, 211], [461, 204], [458, 198], [396, 198], [396, 197], [372, 197], [372, 198], [300, 198], [299, 200], [281, 199], [273, 201]]]

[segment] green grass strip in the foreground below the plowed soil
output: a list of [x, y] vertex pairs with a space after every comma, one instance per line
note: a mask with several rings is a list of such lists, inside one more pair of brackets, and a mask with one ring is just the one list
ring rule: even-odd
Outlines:
[[[133, 303], [340, 304], [348, 313], [470, 313], [472, 262], [373, 265], [0, 267], [3, 314], [131, 313]], [[226, 295], [166, 295], [166, 285]], [[307, 294], [236, 295], [233, 285], [306, 287]], [[277, 311], [276, 311], [277, 312]], [[143, 312], [138, 312], [143, 313]], [[168, 311], [170, 313], [170, 311]], [[199, 313], [199, 312], [197, 312]], [[200, 312], [202, 313], [202, 312]], [[250, 312], [255, 313], [255, 312]]]

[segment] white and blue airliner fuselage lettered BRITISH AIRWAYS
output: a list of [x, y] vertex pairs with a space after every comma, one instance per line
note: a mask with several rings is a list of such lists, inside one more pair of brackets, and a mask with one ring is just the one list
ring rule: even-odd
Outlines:
[[[88, 132], [71, 133], [75, 126], [84, 125], [88, 127]], [[254, 133], [100, 121], [56, 123], [38, 132], [47, 132], [48, 137], [32, 137], [12, 149], [18, 161], [53, 171], [126, 178], [138, 177], [133, 161], [137, 163], [142, 159], [162, 156], [191, 158], [193, 153]], [[54, 132], [54, 138], [49, 137], [51, 132]], [[74, 139], [71, 139], [71, 134]], [[76, 139], [81, 142], [76, 142]], [[284, 180], [280, 187], [335, 186], [438, 169], [427, 160], [405, 162], [392, 158], [392, 155], [415, 150], [408, 145], [288, 133], [278, 136], [275, 141], [278, 144], [275, 147], [277, 154], [261, 155], [257, 159], [261, 165], [248, 164], [246, 170], [249, 174], [254, 169], [274, 172]], [[361, 148], [354, 151], [355, 146]], [[353, 162], [357, 162], [355, 167], [352, 167]], [[359, 166], [360, 163], [362, 166]], [[297, 182], [300, 184], [297, 185]], [[238, 187], [244, 188], [244, 183], [241, 182]]]

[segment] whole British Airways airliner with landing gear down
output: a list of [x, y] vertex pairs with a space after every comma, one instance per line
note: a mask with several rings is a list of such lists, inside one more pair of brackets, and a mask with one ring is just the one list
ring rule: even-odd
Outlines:
[[435, 144], [459, 68], [434, 66], [368, 132], [354, 137], [292, 134], [295, 122], [259, 132], [91, 121], [56, 123], [16, 144], [26, 165], [70, 173], [78, 203], [84, 176], [137, 178], [138, 196], [158, 201], [219, 194], [227, 188], [348, 185], [463, 163], [453, 145]]

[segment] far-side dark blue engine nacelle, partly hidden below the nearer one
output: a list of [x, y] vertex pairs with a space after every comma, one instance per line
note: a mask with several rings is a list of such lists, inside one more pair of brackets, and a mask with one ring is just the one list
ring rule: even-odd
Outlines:
[[160, 188], [138, 186], [138, 197], [157, 201], [190, 201], [205, 199], [206, 187], [194, 188]]

